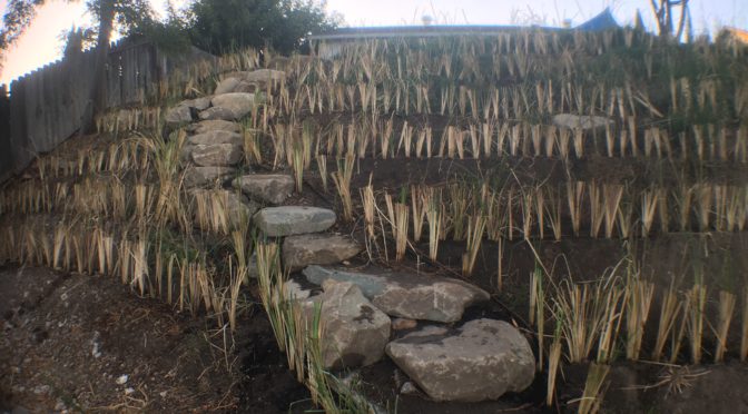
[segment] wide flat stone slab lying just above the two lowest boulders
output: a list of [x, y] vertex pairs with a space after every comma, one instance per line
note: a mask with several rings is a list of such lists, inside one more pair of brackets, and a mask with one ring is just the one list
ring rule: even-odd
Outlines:
[[414, 273], [364, 274], [312, 265], [304, 276], [317, 285], [326, 279], [354, 283], [384, 313], [409, 319], [456, 322], [465, 307], [490, 298], [485, 290], [465, 282]]

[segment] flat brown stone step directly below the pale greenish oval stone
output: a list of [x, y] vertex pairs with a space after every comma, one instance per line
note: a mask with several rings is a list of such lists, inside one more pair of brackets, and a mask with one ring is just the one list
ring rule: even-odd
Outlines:
[[341, 235], [299, 235], [283, 240], [283, 265], [292, 272], [308, 265], [333, 265], [361, 252], [351, 237]]

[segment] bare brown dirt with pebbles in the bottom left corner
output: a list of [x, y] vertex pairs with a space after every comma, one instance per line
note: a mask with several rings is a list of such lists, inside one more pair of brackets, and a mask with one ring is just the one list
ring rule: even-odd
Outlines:
[[278, 413], [307, 397], [256, 341], [259, 313], [234, 343], [111, 278], [0, 267], [0, 413]]

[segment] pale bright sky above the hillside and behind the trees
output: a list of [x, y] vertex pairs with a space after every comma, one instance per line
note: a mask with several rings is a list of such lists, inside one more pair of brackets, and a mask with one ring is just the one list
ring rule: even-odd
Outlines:
[[[178, 0], [184, 2], [187, 0]], [[0, 0], [4, 14], [7, 0]], [[165, 0], [154, 0], [161, 9]], [[516, 24], [539, 23], [572, 26], [584, 22], [610, 7], [619, 24], [633, 21], [641, 9], [648, 27], [653, 27], [649, 0], [327, 0], [327, 11], [339, 13], [346, 26], [420, 24], [427, 14], [441, 24]], [[722, 26], [748, 29], [746, 0], [690, 0], [696, 33], [713, 32]], [[60, 58], [60, 34], [73, 24], [90, 24], [82, 1], [48, 1], [31, 27], [9, 50], [0, 72], [0, 83], [9, 83], [36, 68]]]

